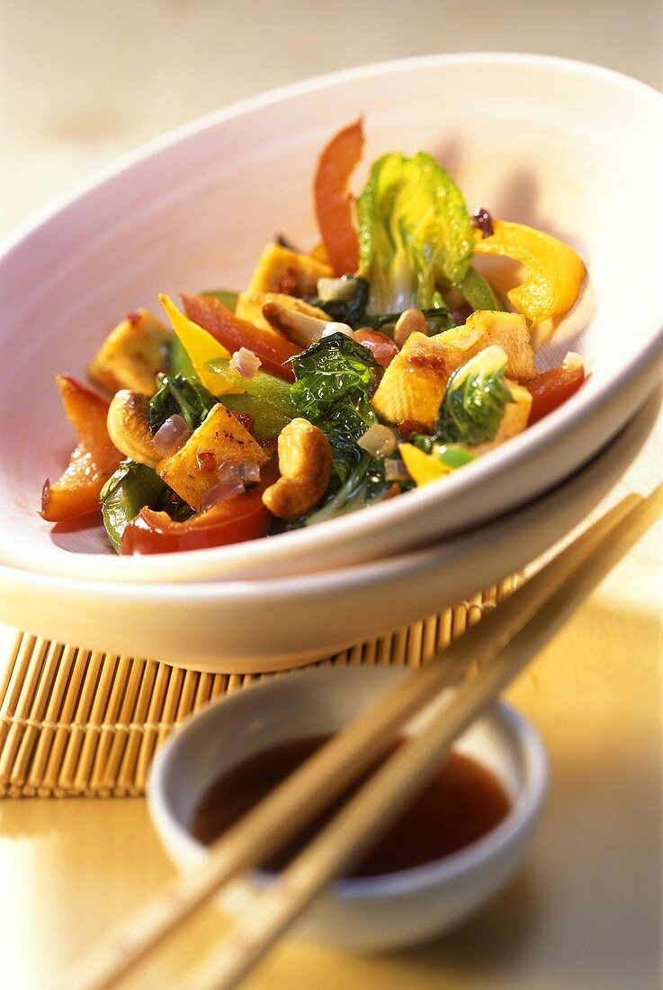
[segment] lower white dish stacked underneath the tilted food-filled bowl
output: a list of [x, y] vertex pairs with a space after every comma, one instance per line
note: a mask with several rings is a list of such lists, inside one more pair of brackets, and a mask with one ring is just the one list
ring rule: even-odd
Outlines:
[[519, 570], [597, 505], [649, 434], [660, 389], [599, 456], [504, 519], [423, 550], [310, 575], [110, 584], [0, 566], [0, 620], [58, 642], [213, 672], [295, 666], [386, 635]]

